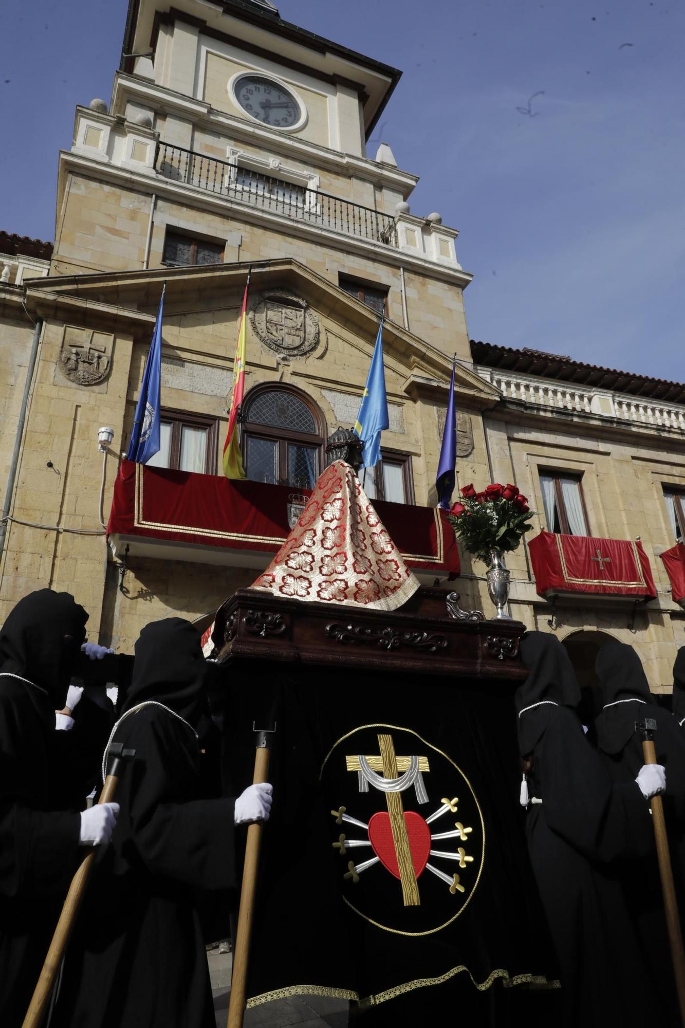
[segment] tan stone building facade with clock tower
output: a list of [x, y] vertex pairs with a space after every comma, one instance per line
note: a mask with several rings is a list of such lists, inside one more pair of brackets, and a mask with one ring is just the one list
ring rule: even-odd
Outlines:
[[[124, 555], [104, 529], [165, 283], [157, 463], [220, 474], [250, 271], [249, 477], [311, 484], [327, 435], [355, 420], [384, 309], [391, 424], [368, 490], [435, 505], [456, 355], [459, 484], [516, 480], [542, 512], [540, 469], [582, 476], [588, 534], [641, 535], [658, 582], [632, 629], [632, 611], [607, 597], [551, 618], [521, 549], [509, 561], [512, 615], [545, 629], [552, 620], [561, 637], [574, 636], [579, 661], [598, 630], [629, 640], [653, 688], [669, 686], [685, 613], [669, 599], [657, 554], [675, 541], [662, 483], [685, 482], [685, 397], [668, 404], [666, 419], [633, 417], [636, 398], [620, 383], [567, 393], [552, 376], [545, 394], [546, 366], [507, 376], [511, 361], [490, 352], [498, 347], [469, 343], [471, 276], [457, 230], [439, 214], [411, 213], [417, 177], [389, 146], [366, 153], [398, 78], [290, 25], [267, 0], [132, 0], [111, 101], [77, 108], [73, 145], [60, 154], [49, 276], [0, 286], [0, 345], [15, 355], [20, 389], [27, 317], [40, 333], [8, 497], [0, 617], [33, 588], [67, 589], [89, 611], [92, 638], [131, 652], [147, 621], [202, 618], [267, 563], [164, 540]], [[260, 396], [271, 413], [253, 425]], [[100, 447], [102, 426], [113, 438]], [[3, 426], [3, 469], [15, 428], [12, 436], [11, 418]], [[458, 589], [463, 603], [489, 609], [483, 568], [468, 554]]]

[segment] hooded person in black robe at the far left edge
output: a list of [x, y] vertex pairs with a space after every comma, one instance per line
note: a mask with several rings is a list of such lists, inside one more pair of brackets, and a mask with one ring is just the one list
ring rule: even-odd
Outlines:
[[24, 1021], [77, 866], [80, 820], [66, 809], [55, 711], [64, 707], [86, 620], [68, 593], [41, 589], [20, 600], [0, 630], [3, 1028]]

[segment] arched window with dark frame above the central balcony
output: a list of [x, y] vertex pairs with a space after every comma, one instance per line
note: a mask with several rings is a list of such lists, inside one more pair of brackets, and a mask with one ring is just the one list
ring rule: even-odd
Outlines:
[[323, 471], [325, 423], [307, 394], [257, 386], [243, 403], [243, 460], [253, 482], [313, 489]]

